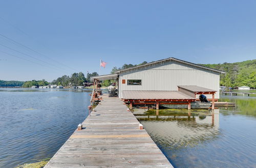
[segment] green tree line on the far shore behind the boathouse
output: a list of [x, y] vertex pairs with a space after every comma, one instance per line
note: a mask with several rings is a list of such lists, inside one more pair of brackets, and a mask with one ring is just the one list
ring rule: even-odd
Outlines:
[[[131, 68], [135, 66], [140, 66], [147, 64], [146, 61], [138, 65], [124, 64], [122, 67], [113, 67], [111, 74], [116, 71], [126, 68]], [[200, 64], [209, 68], [214, 68], [226, 72], [225, 74], [220, 74], [220, 86], [226, 87], [240, 87], [248, 86], [250, 88], [256, 88], [256, 60], [248, 60], [244, 62], [237, 63], [223, 63], [223, 64]], [[44, 79], [42, 80], [31, 80], [31, 81], [4, 81], [0, 80], [0, 87], [15, 87], [22, 86], [25, 88], [30, 88], [31, 86], [46, 86], [61, 85], [67, 86], [82, 86], [84, 82], [91, 82], [90, 78], [92, 76], [98, 76], [97, 72], [87, 73], [85, 76], [82, 72], [73, 73], [71, 76], [63, 75], [48, 82]], [[104, 80], [102, 82], [103, 86], [109, 86], [114, 83], [115, 80]]]

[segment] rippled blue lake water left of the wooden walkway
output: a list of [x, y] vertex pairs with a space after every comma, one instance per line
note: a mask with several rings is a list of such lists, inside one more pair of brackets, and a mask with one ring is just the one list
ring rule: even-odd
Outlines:
[[51, 158], [88, 116], [89, 93], [0, 89], [0, 167]]

